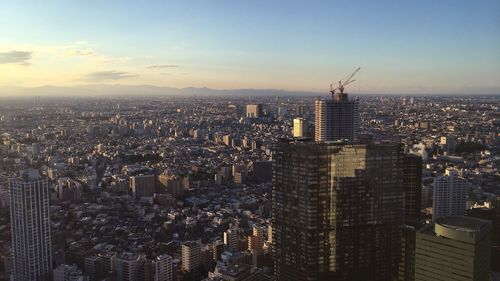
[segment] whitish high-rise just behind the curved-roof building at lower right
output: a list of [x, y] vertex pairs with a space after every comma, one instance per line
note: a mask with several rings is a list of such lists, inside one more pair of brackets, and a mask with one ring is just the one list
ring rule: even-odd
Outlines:
[[432, 220], [465, 215], [467, 182], [455, 169], [446, 169], [444, 176], [434, 179]]

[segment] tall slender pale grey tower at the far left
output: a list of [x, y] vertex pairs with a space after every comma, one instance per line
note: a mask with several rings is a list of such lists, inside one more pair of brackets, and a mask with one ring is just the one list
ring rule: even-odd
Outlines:
[[49, 188], [37, 170], [9, 179], [15, 281], [52, 280]]

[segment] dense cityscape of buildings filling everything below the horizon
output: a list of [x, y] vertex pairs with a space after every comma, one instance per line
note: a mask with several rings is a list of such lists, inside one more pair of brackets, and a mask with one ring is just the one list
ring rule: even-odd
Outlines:
[[0, 280], [499, 280], [499, 108], [3, 99]]

